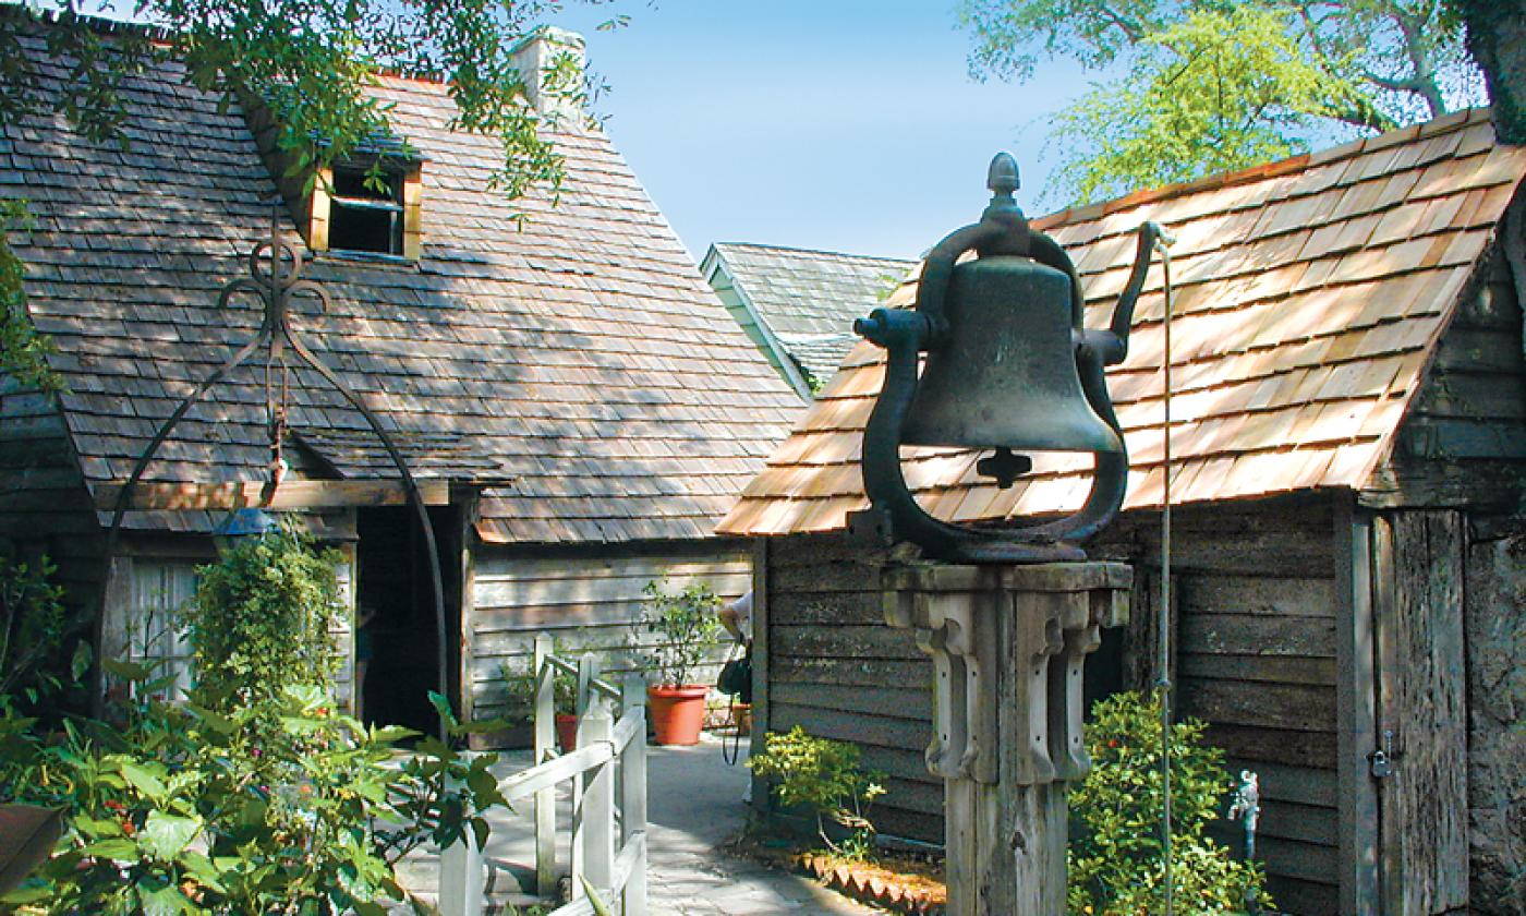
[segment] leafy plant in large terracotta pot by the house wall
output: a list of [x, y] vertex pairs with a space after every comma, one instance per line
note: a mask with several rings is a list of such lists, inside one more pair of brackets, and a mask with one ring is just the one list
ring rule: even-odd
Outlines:
[[658, 743], [699, 743], [710, 685], [693, 682], [694, 669], [716, 647], [720, 598], [703, 582], [670, 591], [667, 579], [649, 582], [644, 592], [635, 641], [653, 678], [647, 684], [652, 727]]

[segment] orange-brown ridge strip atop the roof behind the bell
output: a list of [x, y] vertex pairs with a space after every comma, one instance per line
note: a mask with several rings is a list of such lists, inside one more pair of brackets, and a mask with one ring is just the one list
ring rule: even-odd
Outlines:
[[1457, 111], [1450, 111], [1447, 114], [1442, 114], [1441, 118], [1433, 118], [1430, 121], [1398, 127], [1378, 134], [1372, 134], [1370, 137], [1357, 137], [1355, 140], [1347, 140], [1344, 144], [1337, 144], [1334, 147], [1325, 147], [1322, 150], [1314, 150], [1311, 153], [1299, 153], [1297, 156], [1288, 156], [1285, 159], [1276, 159], [1273, 162], [1264, 162], [1260, 165], [1251, 165], [1241, 169], [1213, 173], [1209, 176], [1202, 176], [1201, 179], [1193, 179], [1190, 182], [1177, 182], [1173, 185], [1161, 185], [1158, 188], [1141, 188], [1138, 191], [1125, 194], [1123, 197], [1114, 197], [1111, 200], [1088, 203], [1085, 206], [1065, 208], [1062, 211], [1038, 217], [1032, 221], [1032, 224], [1036, 229], [1047, 231], [1056, 226], [1065, 226], [1068, 223], [1096, 220], [1097, 217], [1105, 217], [1109, 214], [1135, 209], [1149, 203], [1173, 200], [1177, 197], [1184, 197], [1187, 194], [1198, 194], [1201, 191], [1210, 191], [1216, 188], [1233, 188], [1236, 185], [1250, 185], [1262, 179], [1283, 177], [1305, 171], [1311, 166], [1329, 165], [1332, 162], [1355, 159], [1363, 153], [1383, 150], [1387, 147], [1393, 147], [1396, 144], [1404, 144], [1421, 137], [1430, 139], [1447, 133], [1454, 133], [1473, 124], [1488, 119], [1489, 111], [1491, 108], [1488, 105], [1462, 108]]

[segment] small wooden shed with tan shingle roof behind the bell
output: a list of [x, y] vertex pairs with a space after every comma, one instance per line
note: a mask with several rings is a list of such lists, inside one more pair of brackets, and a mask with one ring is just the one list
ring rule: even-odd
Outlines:
[[[1257, 856], [1289, 913], [1526, 911], [1523, 177], [1526, 150], [1476, 110], [1036, 221], [1091, 321], [1143, 221], [1177, 237], [1175, 713], [1259, 774]], [[1163, 313], [1157, 266], [1109, 374], [1132, 470], [1088, 550], [1129, 562], [1135, 594], [1088, 661], [1096, 693], [1157, 679]], [[890, 774], [876, 820], [940, 841], [931, 666], [882, 620], [888, 545], [853, 525], [882, 366], [853, 350], [720, 531], [754, 539], [758, 731], [859, 743]], [[903, 467], [966, 522], [1087, 492], [1090, 456], [1038, 456], [1009, 490], [977, 458], [908, 449]]]

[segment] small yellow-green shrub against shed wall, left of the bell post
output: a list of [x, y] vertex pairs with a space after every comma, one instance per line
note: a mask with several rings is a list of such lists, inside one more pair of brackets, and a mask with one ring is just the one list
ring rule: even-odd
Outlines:
[[[774, 783], [780, 805], [810, 809], [816, 815], [816, 834], [838, 855], [868, 858], [874, 849], [868, 808], [885, 794], [885, 776], [864, 772], [858, 745], [816, 737], [795, 725], [783, 734], [771, 731], [763, 747], [761, 754], [748, 759], [748, 766]], [[847, 840], [833, 841], [827, 835], [827, 820], [847, 827]]]

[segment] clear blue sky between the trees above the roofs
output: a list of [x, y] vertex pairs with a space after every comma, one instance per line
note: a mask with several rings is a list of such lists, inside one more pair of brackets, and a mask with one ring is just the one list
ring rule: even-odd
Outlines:
[[[911, 258], [980, 217], [998, 150], [1041, 212], [1045, 116], [1087, 89], [1070, 63], [972, 81], [952, 8], [658, 0], [554, 21], [588, 38], [606, 130], [696, 258], [713, 241]], [[629, 24], [595, 31], [612, 12]]]

